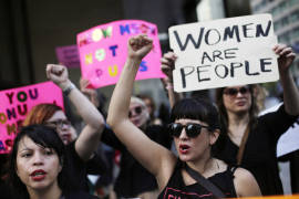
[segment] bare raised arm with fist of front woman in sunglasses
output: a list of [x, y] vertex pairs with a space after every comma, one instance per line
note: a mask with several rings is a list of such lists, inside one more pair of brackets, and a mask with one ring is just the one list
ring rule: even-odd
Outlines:
[[173, 165], [175, 164], [175, 156], [168, 149], [152, 142], [140, 128], [131, 123], [127, 116], [130, 98], [138, 66], [142, 59], [152, 50], [152, 40], [145, 35], [130, 39], [127, 60], [110, 102], [107, 124], [130, 153], [150, 172], [156, 176], [161, 187], [166, 181], [164, 180], [165, 178], [161, 177], [163, 176], [163, 170], [168, 168], [168, 161], [172, 161]]

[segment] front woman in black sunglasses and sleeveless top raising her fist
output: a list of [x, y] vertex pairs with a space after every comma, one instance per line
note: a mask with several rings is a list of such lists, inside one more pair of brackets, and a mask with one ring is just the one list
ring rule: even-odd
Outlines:
[[158, 198], [214, 198], [186, 172], [193, 168], [213, 181], [226, 197], [259, 196], [255, 178], [245, 169], [230, 170], [224, 161], [210, 155], [219, 127], [217, 111], [209, 103], [195, 100], [178, 102], [172, 111], [169, 133], [178, 157], [152, 142], [128, 118], [130, 96], [142, 59], [152, 50], [153, 41], [137, 35], [128, 41], [128, 55], [113, 92], [107, 123], [132, 155], [157, 180]]

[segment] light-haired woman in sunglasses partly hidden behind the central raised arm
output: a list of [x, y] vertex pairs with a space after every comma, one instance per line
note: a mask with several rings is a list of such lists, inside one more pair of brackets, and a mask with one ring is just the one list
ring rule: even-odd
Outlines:
[[[81, 91], [92, 100], [95, 91], [86, 88], [87, 84], [81, 84]], [[86, 92], [87, 90], [87, 92]], [[93, 100], [96, 102], [99, 100]], [[94, 104], [96, 105], [96, 104]], [[130, 121], [142, 130], [144, 135], [155, 143], [171, 148], [171, 136], [161, 125], [150, 124], [150, 113], [142, 98], [132, 96], [130, 100]], [[114, 182], [114, 191], [117, 198], [140, 197], [152, 199], [157, 197], [157, 184], [155, 177], [148, 172], [127, 150], [111, 128], [106, 127], [102, 135], [102, 142], [121, 151], [120, 172]]]

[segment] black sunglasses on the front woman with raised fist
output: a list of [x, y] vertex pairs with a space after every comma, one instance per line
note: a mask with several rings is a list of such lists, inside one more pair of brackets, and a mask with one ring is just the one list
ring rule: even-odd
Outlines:
[[168, 132], [171, 133], [171, 136], [174, 137], [179, 137], [183, 128], [185, 128], [187, 136], [190, 138], [197, 137], [200, 134], [202, 128], [210, 129], [209, 126], [204, 126], [195, 123], [189, 123], [187, 125], [182, 125], [179, 123], [172, 123], [168, 125]]

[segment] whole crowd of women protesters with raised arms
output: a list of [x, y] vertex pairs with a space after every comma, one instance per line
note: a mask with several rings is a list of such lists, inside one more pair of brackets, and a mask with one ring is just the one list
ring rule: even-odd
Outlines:
[[[299, 93], [289, 70], [296, 56], [292, 50], [274, 48], [283, 104], [262, 116], [258, 116], [259, 85], [217, 88], [215, 104], [175, 93], [172, 71], [177, 56], [165, 53], [161, 63], [169, 108], [163, 105], [163, 116], [157, 117], [152, 96], [132, 95], [140, 63], [152, 48], [153, 41], [144, 34], [128, 40], [127, 60], [107, 115], [105, 97], [89, 88], [87, 80], [80, 81], [79, 90], [65, 66], [48, 64], [47, 77], [63, 91], [72, 104], [69, 108], [75, 108], [71, 112], [82, 121], [74, 124], [70, 113], [55, 104], [35, 105], [10, 156], [1, 155], [1, 198], [283, 195], [276, 147], [299, 115]], [[100, 178], [91, 182], [90, 175]]]

